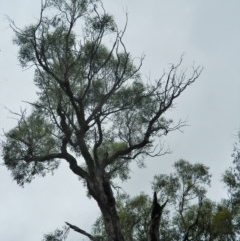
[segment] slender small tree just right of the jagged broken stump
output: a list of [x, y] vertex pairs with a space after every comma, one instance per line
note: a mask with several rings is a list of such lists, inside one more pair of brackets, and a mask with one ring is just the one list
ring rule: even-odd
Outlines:
[[[162, 200], [173, 204], [177, 213], [175, 222], [180, 234], [179, 240], [187, 241], [190, 237], [194, 239], [197, 231], [211, 175], [209, 168], [203, 164], [190, 164], [185, 160], [175, 162], [174, 168], [176, 171], [173, 174], [156, 175], [153, 188], [159, 190]], [[194, 208], [190, 208], [192, 205]]]

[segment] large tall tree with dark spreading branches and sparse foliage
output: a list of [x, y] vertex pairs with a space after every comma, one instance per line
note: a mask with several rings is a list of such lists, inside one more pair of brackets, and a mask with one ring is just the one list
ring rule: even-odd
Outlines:
[[181, 60], [158, 80], [142, 80], [143, 59], [131, 58], [125, 29], [98, 0], [46, 0], [37, 23], [12, 28], [21, 65], [35, 66], [39, 99], [6, 134], [6, 167], [23, 186], [68, 162], [98, 203], [108, 240], [124, 240], [112, 179], [126, 180], [132, 160], [160, 154], [159, 138], [181, 126], [165, 113], [201, 68], [186, 77]]

